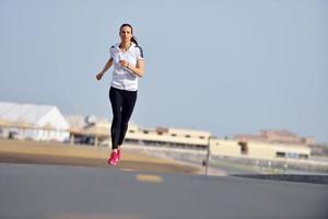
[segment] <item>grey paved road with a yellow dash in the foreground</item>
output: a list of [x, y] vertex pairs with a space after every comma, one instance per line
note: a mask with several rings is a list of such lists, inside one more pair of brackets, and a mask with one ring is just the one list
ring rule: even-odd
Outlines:
[[1, 219], [327, 219], [327, 185], [0, 163]]

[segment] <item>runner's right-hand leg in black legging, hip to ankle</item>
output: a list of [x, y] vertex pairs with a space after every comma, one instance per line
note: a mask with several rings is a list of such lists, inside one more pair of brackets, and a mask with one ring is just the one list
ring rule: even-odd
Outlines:
[[121, 146], [128, 130], [129, 119], [132, 115], [134, 104], [137, 101], [137, 91], [125, 91], [122, 107], [121, 107], [121, 122], [120, 122], [120, 135], [118, 145]]

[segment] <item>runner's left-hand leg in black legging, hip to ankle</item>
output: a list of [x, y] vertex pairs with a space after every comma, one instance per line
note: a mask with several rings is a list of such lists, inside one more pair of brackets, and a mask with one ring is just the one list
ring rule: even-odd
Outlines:
[[122, 91], [110, 88], [109, 100], [113, 110], [113, 120], [110, 127], [112, 136], [112, 149], [117, 149], [120, 137], [120, 124], [121, 124], [121, 107], [122, 107]]

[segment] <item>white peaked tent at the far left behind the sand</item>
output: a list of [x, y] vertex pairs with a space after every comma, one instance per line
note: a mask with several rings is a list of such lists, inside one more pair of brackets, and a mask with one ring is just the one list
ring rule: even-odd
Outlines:
[[21, 138], [63, 141], [70, 136], [57, 106], [0, 102], [0, 119], [11, 122], [7, 129], [16, 128]]

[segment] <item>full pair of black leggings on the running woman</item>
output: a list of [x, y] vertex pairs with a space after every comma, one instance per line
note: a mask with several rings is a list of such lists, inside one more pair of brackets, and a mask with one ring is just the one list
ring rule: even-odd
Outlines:
[[112, 148], [117, 149], [118, 146], [122, 145], [128, 130], [128, 123], [137, 101], [137, 91], [126, 91], [110, 87], [109, 100], [113, 108]]

